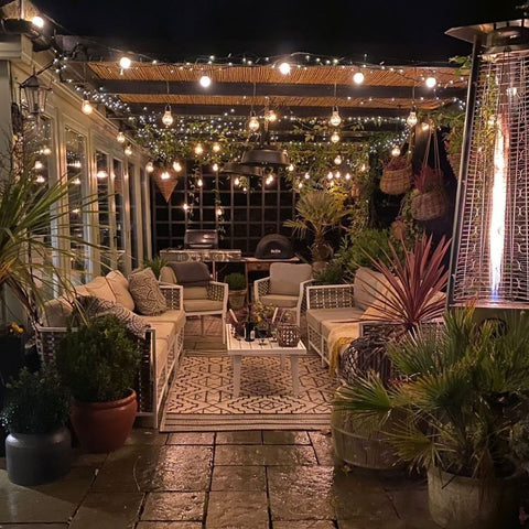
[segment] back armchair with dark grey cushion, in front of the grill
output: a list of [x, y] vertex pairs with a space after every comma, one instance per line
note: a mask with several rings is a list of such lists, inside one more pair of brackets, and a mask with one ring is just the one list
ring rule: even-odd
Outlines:
[[201, 317], [202, 334], [204, 334], [204, 316], [220, 316], [223, 344], [226, 343], [228, 284], [212, 281], [206, 263], [169, 262], [160, 271], [160, 281], [182, 285], [185, 316]]

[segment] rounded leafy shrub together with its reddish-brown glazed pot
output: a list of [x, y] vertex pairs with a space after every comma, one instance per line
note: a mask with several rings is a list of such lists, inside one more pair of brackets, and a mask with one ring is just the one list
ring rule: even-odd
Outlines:
[[112, 314], [68, 328], [61, 341], [56, 366], [72, 391], [72, 425], [86, 452], [111, 452], [130, 434], [140, 358], [137, 338]]

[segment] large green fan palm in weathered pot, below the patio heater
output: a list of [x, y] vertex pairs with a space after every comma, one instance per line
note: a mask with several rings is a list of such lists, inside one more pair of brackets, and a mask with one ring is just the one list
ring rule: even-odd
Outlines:
[[[529, 315], [479, 322], [444, 313], [388, 346], [396, 377], [338, 388], [334, 406], [375, 424], [398, 457], [428, 472], [433, 520], [450, 529], [518, 527], [517, 471], [529, 458]], [[391, 418], [398, 420], [391, 420]]]

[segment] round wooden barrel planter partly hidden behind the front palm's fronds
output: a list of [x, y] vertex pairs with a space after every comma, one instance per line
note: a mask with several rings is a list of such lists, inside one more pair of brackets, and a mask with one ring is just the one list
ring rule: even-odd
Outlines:
[[347, 410], [333, 409], [331, 431], [334, 453], [350, 465], [375, 469], [403, 466], [387, 439], [379, 432], [367, 432], [361, 424], [355, 423]]

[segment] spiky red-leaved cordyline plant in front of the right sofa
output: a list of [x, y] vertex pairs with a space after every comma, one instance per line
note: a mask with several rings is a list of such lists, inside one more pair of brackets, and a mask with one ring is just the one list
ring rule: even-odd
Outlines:
[[450, 240], [443, 236], [434, 246], [432, 236], [422, 234], [412, 249], [403, 241], [401, 245], [403, 257], [389, 244], [386, 261], [370, 258], [387, 283], [381, 288], [371, 287], [377, 298], [373, 307], [379, 313], [374, 319], [398, 323], [406, 331], [412, 331], [423, 322], [441, 317], [444, 312], [443, 290], [449, 270], [443, 259]]

